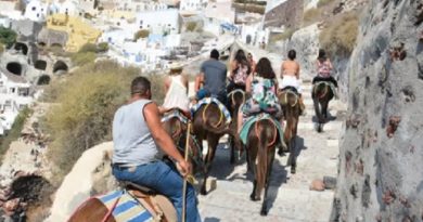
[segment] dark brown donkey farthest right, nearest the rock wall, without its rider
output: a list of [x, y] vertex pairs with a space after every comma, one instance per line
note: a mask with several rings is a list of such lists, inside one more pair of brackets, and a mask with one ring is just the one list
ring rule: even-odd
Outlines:
[[328, 106], [334, 95], [331, 84], [326, 81], [316, 82], [312, 87], [311, 97], [318, 119], [318, 132], [323, 131], [323, 125], [328, 121]]

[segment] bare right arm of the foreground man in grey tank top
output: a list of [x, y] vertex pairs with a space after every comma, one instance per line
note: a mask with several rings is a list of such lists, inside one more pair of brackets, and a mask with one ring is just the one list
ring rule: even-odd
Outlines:
[[165, 154], [174, 158], [179, 164], [182, 168], [182, 175], [190, 173], [191, 166], [183, 159], [170, 135], [162, 127], [157, 105], [155, 103], [145, 105], [143, 115], [156, 144], [163, 149], [163, 152], [165, 152]]

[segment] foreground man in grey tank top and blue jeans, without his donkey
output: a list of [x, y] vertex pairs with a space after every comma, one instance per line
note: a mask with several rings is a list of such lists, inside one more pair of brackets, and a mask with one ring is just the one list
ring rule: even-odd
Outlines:
[[[158, 107], [151, 96], [150, 81], [137, 77], [131, 83], [131, 99], [115, 114], [113, 174], [119, 181], [146, 186], [167, 196], [177, 210], [178, 221], [182, 221], [182, 177], [191, 173], [191, 165], [162, 127]], [[161, 152], [175, 160], [178, 170], [172, 162], [161, 160]], [[194, 187], [189, 184], [187, 221], [201, 221], [196, 205]]]

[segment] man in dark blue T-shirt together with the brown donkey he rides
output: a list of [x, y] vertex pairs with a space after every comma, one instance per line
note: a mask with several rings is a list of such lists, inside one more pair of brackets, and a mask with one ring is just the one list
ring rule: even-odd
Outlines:
[[[206, 181], [219, 139], [225, 134], [235, 135], [235, 131], [229, 127], [232, 118], [227, 108], [226, 80], [227, 66], [219, 62], [219, 52], [213, 50], [210, 58], [202, 64], [201, 73], [195, 79], [195, 92], [198, 102], [191, 108], [193, 134], [195, 134], [198, 141], [206, 140], [208, 144], [207, 155], [204, 160], [204, 181], [201, 187], [201, 194], [203, 195], [207, 194]], [[203, 88], [201, 88], [202, 84]]]

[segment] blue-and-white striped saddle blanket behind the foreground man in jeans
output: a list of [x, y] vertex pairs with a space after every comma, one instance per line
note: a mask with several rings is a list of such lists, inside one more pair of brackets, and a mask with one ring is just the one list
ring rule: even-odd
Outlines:
[[113, 191], [97, 198], [112, 211], [116, 222], [154, 221], [153, 216], [126, 191]]

